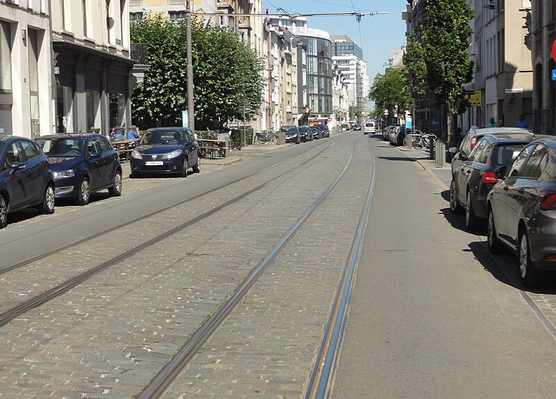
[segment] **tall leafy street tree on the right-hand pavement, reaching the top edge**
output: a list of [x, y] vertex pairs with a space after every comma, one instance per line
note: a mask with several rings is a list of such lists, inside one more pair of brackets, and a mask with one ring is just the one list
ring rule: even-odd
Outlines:
[[407, 40], [404, 65], [414, 97], [423, 93], [423, 83], [448, 109], [448, 141], [452, 115], [468, 107], [463, 85], [473, 77], [468, 47], [474, 10], [468, 0], [429, 0], [428, 20]]

